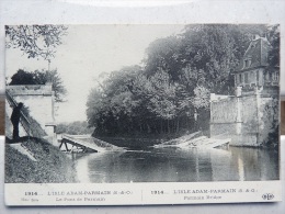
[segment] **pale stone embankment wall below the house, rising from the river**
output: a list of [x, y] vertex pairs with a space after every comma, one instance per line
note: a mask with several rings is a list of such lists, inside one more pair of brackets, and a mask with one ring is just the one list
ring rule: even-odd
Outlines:
[[237, 94], [210, 95], [210, 137], [231, 138], [235, 146], [261, 146], [274, 126], [274, 95], [263, 89]]

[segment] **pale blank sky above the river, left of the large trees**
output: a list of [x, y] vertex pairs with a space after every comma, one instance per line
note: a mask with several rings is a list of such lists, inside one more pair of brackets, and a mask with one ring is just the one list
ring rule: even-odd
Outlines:
[[[68, 25], [50, 69], [57, 69], [67, 89], [66, 102], [56, 106], [56, 121], [87, 121], [86, 103], [102, 72], [141, 65], [145, 50], [156, 38], [179, 34], [183, 25]], [[47, 69], [43, 59], [27, 58], [20, 49], [5, 52], [5, 76], [18, 69]]]

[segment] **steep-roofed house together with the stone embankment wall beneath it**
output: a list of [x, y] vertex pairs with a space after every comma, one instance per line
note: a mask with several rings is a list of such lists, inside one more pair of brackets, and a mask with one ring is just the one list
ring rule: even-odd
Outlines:
[[271, 45], [255, 36], [235, 71], [235, 95], [210, 94], [210, 137], [233, 146], [278, 144], [278, 67], [269, 66]]

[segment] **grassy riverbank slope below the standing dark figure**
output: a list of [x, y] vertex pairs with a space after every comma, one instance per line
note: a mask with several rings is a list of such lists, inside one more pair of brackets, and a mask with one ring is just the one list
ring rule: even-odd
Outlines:
[[21, 146], [36, 161], [7, 144], [4, 171], [7, 183], [70, 183], [77, 181], [72, 160], [45, 139], [31, 138], [27, 140], [25, 138]]

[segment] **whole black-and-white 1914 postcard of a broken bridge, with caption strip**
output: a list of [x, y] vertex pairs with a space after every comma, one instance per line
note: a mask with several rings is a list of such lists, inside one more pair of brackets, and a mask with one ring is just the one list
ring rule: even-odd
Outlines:
[[5, 25], [7, 205], [281, 201], [280, 24]]

